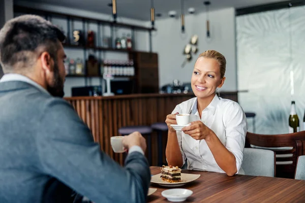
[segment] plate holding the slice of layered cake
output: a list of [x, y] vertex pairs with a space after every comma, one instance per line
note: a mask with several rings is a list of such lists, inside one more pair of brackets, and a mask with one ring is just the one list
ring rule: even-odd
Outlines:
[[200, 177], [200, 174], [183, 174], [181, 173], [181, 181], [178, 183], [168, 183], [161, 179], [161, 174], [157, 174], [155, 176], [152, 176], [150, 179], [151, 183], [157, 183], [161, 186], [167, 186], [167, 187], [177, 187], [181, 185], [185, 185], [187, 183], [190, 183]]

